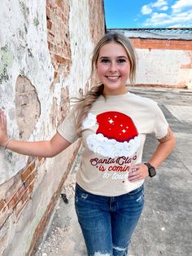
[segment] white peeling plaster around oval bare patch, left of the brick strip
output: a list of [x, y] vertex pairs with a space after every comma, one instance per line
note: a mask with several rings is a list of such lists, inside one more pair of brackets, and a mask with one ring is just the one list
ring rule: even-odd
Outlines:
[[[21, 74], [35, 86], [41, 103], [41, 115], [29, 140], [46, 139], [54, 132], [49, 123], [44, 125], [49, 117], [50, 100], [53, 97], [50, 95], [50, 83], [54, 76], [47, 47], [46, 2], [15, 1], [13, 8], [11, 1], [3, 1], [0, 17], [2, 57], [9, 56], [1, 58], [7, 77], [0, 84], [0, 107], [7, 114], [8, 133], [11, 138], [19, 139], [15, 119], [15, 85]], [[41, 129], [43, 125], [45, 130]], [[24, 167], [27, 159], [28, 157], [0, 150], [0, 167], [3, 170], [0, 183]]]

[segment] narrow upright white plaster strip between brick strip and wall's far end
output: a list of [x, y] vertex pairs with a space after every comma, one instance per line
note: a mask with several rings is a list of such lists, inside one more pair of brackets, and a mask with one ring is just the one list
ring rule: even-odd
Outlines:
[[[86, 13], [86, 14], [85, 14]], [[72, 60], [76, 56], [83, 56], [72, 62], [72, 68], [63, 86], [68, 85], [69, 96], [79, 95], [80, 88], [84, 90], [85, 83], [90, 76], [90, 60], [94, 43], [89, 32], [89, 1], [70, 0], [70, 40]]]

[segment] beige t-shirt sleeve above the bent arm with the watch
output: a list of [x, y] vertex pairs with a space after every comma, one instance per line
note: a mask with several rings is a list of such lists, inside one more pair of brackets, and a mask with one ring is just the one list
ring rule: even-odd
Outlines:
[[168, 134], [168, 121], [164, 117], [164, 113], [156, 104], [155, 108], [155, 123], [153, 133], [157, 139], [162, 139], [165, 135]]

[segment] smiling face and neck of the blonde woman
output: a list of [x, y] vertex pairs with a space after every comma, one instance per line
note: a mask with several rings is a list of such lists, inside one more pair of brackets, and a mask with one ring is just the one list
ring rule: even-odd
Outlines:
[[104, 85], [104, 95], [126, 93], [130, 63], [124, 46], [116, 42], [106, 43], [99, 51], [96, 66], [98, 79]]

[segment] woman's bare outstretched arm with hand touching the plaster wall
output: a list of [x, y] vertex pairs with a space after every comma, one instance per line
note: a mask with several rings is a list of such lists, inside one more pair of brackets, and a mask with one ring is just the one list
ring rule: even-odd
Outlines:
[[7, 149], [22, 155], [32, 157], [55, 157], [57, 154], [59, 154], [59, 152], [62, 152], [70, 145], [71, 143], [69, 143], [66, 139], [63, 139], [58, 132], [53, 136], [52, 139], [44, 141], [26, 142], [14, 139], [8, 140], [7, 118], [0, 109], [0, 146], [6, 146]]

